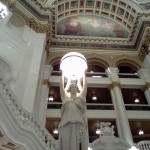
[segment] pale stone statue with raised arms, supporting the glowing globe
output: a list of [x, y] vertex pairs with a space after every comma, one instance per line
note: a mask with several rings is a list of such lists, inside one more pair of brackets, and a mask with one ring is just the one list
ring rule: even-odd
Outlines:
[[87, 85], [85, 76], [81, 81], [71, 83], [68, 79], [64, 88], [64, 76], [60, 82], [60, 94], [63, 101], [59, 124], [59, 150], [87, 150], [88, 129], [86, 110]]

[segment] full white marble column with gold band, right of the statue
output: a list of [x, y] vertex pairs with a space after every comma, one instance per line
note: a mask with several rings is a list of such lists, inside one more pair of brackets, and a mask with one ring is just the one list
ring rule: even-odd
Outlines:
[[111, 91], [115, 111], [117, 113], [117, 125], [119, 129], [119, 136], [129, 144], [133, 145], [133, 138], [121, 93], [121, 85], [119, 83], [118, 72], [118, 68], [107, 69], [107, 74], [112, 81], [109, 88]]

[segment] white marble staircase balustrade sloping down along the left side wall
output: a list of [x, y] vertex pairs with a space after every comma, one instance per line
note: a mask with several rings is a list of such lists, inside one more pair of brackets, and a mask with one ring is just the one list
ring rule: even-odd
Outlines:
[[26, 130], [35, 135], [34, 137], [37, 137], [37, 143], [41, 143], [46, 150], [57, 150], [55, 139], [39, 120], [35, 119], [32, 114], [23, 109], [13, 91], [7, 85], [2, 73], [0, 73], [0, 97], [2, 104], [7, 108], [7, 113], [11, 112], [13, 120], [22, 130]]

